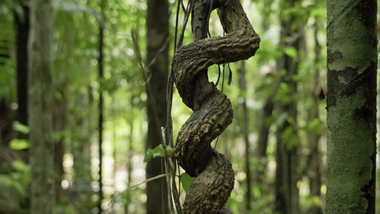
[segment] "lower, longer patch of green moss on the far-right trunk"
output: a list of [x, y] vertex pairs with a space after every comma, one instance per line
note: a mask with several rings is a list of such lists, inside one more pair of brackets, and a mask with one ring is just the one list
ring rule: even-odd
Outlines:
[[365, 214], [368, 201], [364, 188], [372, 179], [374, 124], [357, 118], [355, 111], [366, 105], [364, 93], [337, 96], [328, 111], [327, 211], [335, 214]]

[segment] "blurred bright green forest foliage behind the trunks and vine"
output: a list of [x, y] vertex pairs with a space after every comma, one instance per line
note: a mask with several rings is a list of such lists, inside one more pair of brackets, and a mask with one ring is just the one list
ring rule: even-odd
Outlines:
[[[132, 27], [139, 35], [143, 61], [146, 56], [146, 0], [106, 0], [101, 15], [97, 0], [55, 0], [54, 28], [54, 100], [58, 115], [55, 121], [64, 125], [54, 129], [54, 139], [62, 142], [56, 146], [61, 152], [57, 164], [63, 166], [57, 173], [56, 213], [97, 213], [99, 190], [97, 102], [99, 91], [104, 97], [103, 151], [103, 213], [144, 214], [146, 202], [145, 184], [116, 195], [129, 186], [145, 180], [143, 162], [147, 133], [146, 99], [144, 80], [139, 61], [133, 49], [130, 34]], [[28, 213], [28, 185], [30, 167], [25, 151], [28, 141], [22, 134], [28, 127], [17, 122], [18, 109], [16, 81], [16, 24], [15, 17], [25, 21], [23, 7], [28, 1], [0, 1], [0, 213]], [[188, 1], [184, 0], [187, 5]], [[230, 98], [234, 108], [233, 124], [220, 136], [216, 149], [232, 161], [236, 174], [235, 189], [227, 203], [234, 214], [273, 214], [276, 170], [276, 132], [285, 121], [296, 127], [297, 139], [286, 141], [289, 147], [297, 146], [299, 166], [300, 213], [309, 213], [313, 206], [324, 210], [326, 193], [326, 1], [300, 0], [286, 7], [284, 0], [241, 0], [252, 26], [260, 35], [260, 49], [254, 57], [245, 61], [246, 90], [239, 89], [241, 62], [226, 65], [225, 81], [221, 90]], [[173, 53], [176, 2], [169, 2], [170, 50]], [[300, 29], [298, 49], [286, 45], [292, 37], [281, 37], [281, 22], [295, 17], [290, 28]], [[184, 13], [181, 11], [179, 29]], [[190, 23], [190, 22], [189, 22]], [[98, 28], [104, 26], [104, 78], [97, 77]], [[211, 36], [223, 35], [216, 11], [210, 17]], [[184, 44], [192, 42], [190, 25], [187, 26]], [[321, 51], [316, 51], [320, 47]], [[317, 55], [320, 54], [320, 55]], [[278, 69], [284, 56], [297, 59], [298, 73], [288, 77], [284, 69]], [[170, 55], [170, 58], [172, 55]], [[232, 84], [227, 86], [229, 68]], [[316, 76], [316, 70], [319, 75]], [[169, 71], [168, 71], [169, 72]], [[223, 77], [221, 77], [223, 78]], [[297, 83], [294, 92], [286, 78]], [[210, 81], [218, 79], [218, 67], [209, 68]], [[102, 88], [99, 88], [100, 85]], [[162, 85], [166, 87], [166, 85]], [[317, 102], [315, 101], [317, 99]], [[166, 98], [162, 98], [166, 99]], [[246, 103], [248, 117], [243, 114]], [[292, 121], [288, 112], [275, 108], [263, 116], [266, 104], [295, 102], [297, 120]], [[311, 109], [318, 113], [310, 116]], [[32, 113], [32, 112], [29, 112]], [[190, 116], [174, 91], [173, 128], [174, 138], [181, 125]], [[245, 210], [246, 171], [243, 122], [248, 122], [249, 165], [252, 180], [251, 210]], [[268, 145], [264, 156], [257, 153], [262, 126], [269, 128]], [[8, 128], [10, 127], [10, 129]], [[7, 131], [7, 136], [3, 132]], [[293, 132], [282, 132], [282, 137], [292, 138]], [[310, 194], [309, 156], [310, 136], [318, 135], [321, 180], [320, 196]], [[159, 141], [159, 139], [157, 139]], [[213, 145], [215, 142], [213, 143]], [[153, 149], [153, 148], [151, 148]], [[264, 171], [259, 173], [259, 171]], [[255, 177], [260, 174], [261, 177]], [[379, 185], [377, 185], [379, 186]], [[379, 189], [379, 188], [378, 188]], [[377, 194], [378, 196], [380, 194]], [[181, 191], [182, 201], [185, 191]], [[157, 202], [161, 203], [161, 202]], [[378, 205], [380, 201], [378, 200]]]

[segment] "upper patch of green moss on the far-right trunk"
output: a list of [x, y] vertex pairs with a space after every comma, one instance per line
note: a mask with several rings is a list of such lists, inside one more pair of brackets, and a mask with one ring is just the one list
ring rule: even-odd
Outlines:
[[368, 29], [357, 14], [356, 0], [328, 1], [328, 50], [341, 57], [328, 63], [330, 70], [356, 68], [363, 73], [377, 58], [373, 29]]

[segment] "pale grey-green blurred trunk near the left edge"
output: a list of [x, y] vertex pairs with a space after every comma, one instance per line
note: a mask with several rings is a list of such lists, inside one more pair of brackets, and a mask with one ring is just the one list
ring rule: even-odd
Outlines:
[[52, 139], [53, 8], [50, 0], [30, 4], [29, 53], [29, 158], [31, 214], [54, 213], [54, 141]]

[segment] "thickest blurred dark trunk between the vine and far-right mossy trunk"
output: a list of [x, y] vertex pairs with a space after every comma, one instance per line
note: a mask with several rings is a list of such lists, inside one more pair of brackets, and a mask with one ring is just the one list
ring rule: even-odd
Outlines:
[[[289, 8], [295, 5], [297, 0], [284, 1], [283, 8]], [[288, 20], [281, 21], [281, 41], [283, 47], [292, 47], [298, 51], [299, 32], [292, 30], [295, 17], [291, 15]], [[288, 38], [293, 37], [289, 41]], [[295, 38], [295, 39], [294, 39]], [[289, 41], [285, 43], [284, 41]], [[297, 83], [292, 77], [298, 73], [298, 58], [292, 58], [286, 54], [278, 62], [278, 70], [285, 69], [286, 75], [282, 84], [286, 84], [290, 90], [289, 101], [279, 101], [279, 115], [287, 114], [283, 124], [279, 124], [277, 130], [277, 154], [276, 154], [276, 203], [275, 210], [282, 214], [297, 214], [298, 205], [298, 144], [297, 134], [297, 104], [295, 96], [297, 93]], [[285, 99], [286, 100], [286, 99]], [[290, 123], [292, 121], [292, 123]]]

